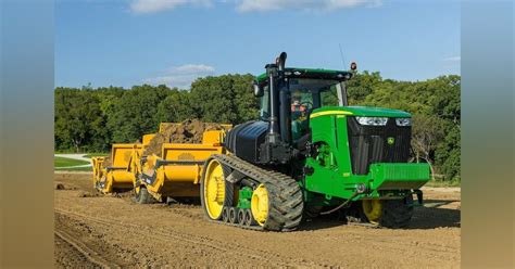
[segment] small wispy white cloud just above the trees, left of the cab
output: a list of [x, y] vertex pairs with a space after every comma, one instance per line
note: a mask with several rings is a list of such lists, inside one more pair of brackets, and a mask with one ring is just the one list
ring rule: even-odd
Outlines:
[[188, 89], [191, 87], [193, 80], [199, 77], [212, 75], [214, 72], [215, 68], [213, 66], [205, 64], [185, 64], [169, 68], [163, 76], [147, 78], [143, 82]]

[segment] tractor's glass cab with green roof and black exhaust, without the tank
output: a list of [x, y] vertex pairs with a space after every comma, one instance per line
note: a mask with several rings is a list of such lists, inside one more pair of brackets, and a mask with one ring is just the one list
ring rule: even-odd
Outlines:
[[286, 53], [276, 64], [265, 66], [256, 77], [254, 94], [261, 98], [261, 120], [269, 121], [272, 136], [282, 142], [296, 142], [309, 134], [309, 118], [313, 110], [324, 106], [347, 106], [346, 81], [351, 72], [314, 68], [285, 68]]

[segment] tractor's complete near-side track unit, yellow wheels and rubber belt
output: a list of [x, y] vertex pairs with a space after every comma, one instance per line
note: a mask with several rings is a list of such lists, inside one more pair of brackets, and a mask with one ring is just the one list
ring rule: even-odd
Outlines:
[[[272, 231], [291, 231], [300, 225], [304, 203], [292, 178], [229, 155], [213, 155], [206, 164], [201, 201], [210, 220]], [[246, 187], [253, 190], [251, 206], [240, 208], [238, 192]]]

